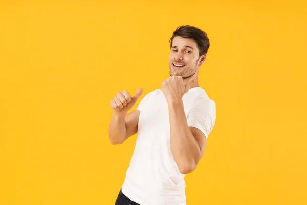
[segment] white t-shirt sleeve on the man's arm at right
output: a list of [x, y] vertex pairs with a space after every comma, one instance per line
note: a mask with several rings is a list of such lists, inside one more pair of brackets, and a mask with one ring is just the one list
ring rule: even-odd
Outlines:
[[187, 116], [188, 126], [198, 128], [208, 139], [215, 124], [215, 109], [215, 102], [211, 99], [193, 106]]

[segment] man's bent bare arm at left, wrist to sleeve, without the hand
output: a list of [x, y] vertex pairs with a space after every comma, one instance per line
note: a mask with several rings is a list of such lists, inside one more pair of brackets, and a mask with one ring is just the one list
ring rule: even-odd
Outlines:
[[109, 140], [111, 144], [122, 144], [138, 131], [139, 110], [134, 110], [127, 115], [113, 113], [109, 125]]

